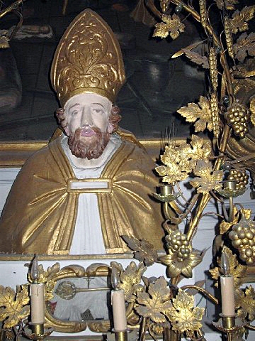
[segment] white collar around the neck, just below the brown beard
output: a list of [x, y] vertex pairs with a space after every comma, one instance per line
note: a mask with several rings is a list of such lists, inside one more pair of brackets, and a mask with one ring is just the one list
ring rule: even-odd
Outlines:
[[106, 163], [108, 155], [113, 151], [114, 148], [115, 148], [115, 144], [110, 139], [102, 155], [99, 158], [91, 158], [91, 160], [89, 160], [88, 158], [77, 158], [76, 156], [72, 154], [69, 148], [68, 148], [68, 156], [75, 167], [96, 168], [96, 167], [101, 167], [103, 166], [104, 163]]

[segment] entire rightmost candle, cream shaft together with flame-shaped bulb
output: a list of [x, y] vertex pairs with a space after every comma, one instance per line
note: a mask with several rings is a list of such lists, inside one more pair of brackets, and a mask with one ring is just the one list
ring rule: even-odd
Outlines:
[[223, 271], [223, 275], [220, 276], [222, 315], [234, 316], [234, 278], [229, 274], [229, 261], [224, 251], [222, 252], [221, 265]]

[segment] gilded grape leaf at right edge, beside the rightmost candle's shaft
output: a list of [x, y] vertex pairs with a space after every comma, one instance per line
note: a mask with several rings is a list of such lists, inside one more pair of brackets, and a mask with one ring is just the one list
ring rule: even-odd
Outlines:
[[237, 310], [237, 316], [239, 318], [246, 318], [250, 321], [255, 318], [255, 291], [252, 286], [242, 289], [238, 289], [234, 293], [234, 303]]

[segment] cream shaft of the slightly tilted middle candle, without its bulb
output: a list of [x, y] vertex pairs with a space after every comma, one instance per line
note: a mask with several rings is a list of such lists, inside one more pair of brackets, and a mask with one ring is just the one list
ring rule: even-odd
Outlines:
[[127, 317], [125, 310], [125, 295], [122, 289], [111, 292], [111, 301], [113, 305], [113, 325], [115, 332], [121, 332], [127, 329]]

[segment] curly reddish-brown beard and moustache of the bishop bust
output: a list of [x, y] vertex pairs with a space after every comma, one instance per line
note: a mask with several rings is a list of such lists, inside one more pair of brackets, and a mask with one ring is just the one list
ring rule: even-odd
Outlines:
[[91, 127], [91, 130], [94, 131], [94, 135], [89, 137], [81, 135], [81, 128], [78, 128], [74, 134], [70, 133], [68, 144], [72, 154], [77, 158], [88, 158], [88, 160], [99, 158], [106, 148], [111, 134], [108, 131], [102, 133], [96, 126]]

